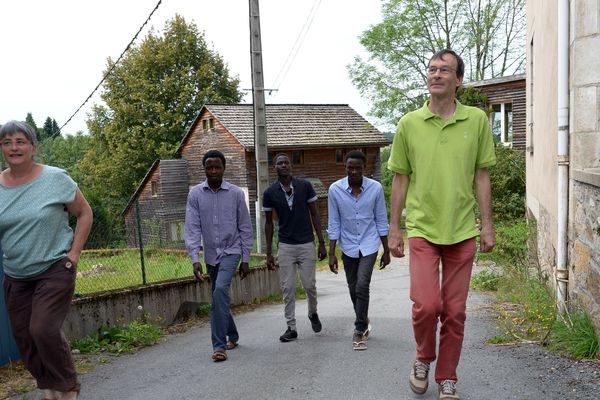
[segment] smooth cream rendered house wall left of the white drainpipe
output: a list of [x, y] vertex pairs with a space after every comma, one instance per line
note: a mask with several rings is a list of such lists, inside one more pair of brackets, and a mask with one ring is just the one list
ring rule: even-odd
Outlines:
[[553, 274], [557, 231], [556, 2], [527, 1], [527, 206], [538, 224], [540, 266]]

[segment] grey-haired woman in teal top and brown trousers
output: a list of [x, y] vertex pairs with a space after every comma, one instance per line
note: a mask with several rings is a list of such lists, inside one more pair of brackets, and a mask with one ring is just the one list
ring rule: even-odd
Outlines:
[[[25, 367], [44, 399], [74, 399], [79, 382], [62, 324], [77, 262], [92, 226], [92, 210], [62, 169], [34, 161], [33, 129], [9, 121], [0, 128], [0, 243], [4, 298]], [[75, 232], [69, 213], [77, 218]]]

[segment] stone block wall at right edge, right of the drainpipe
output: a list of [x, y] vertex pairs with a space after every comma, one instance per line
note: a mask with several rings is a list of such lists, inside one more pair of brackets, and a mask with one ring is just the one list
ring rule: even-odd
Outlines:
[[600, 335], [600, 2], [570, 6], [569, 294]]

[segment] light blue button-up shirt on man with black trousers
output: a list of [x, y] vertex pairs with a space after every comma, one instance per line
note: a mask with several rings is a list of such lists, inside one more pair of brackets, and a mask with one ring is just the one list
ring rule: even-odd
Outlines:
[[376, 253], [381, 236], [387, 236], [389, 225], [385, 195], [381, 184], [363, 176], [361, 192], [352, 195], [348, 177], [329, 187], [329, 240], [337, 240], [342, 252], [358, 258]]

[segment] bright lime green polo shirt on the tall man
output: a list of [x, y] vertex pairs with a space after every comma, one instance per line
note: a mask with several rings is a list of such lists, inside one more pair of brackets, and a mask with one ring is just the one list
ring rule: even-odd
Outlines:
[[496, 164], [486, 114], [456, 101], [448, 122], [427, 107], [400, 119], [388, 168], [408, 175], [408, 237], [454, 244], [478, 235], [475, 227], [475, 171]]

